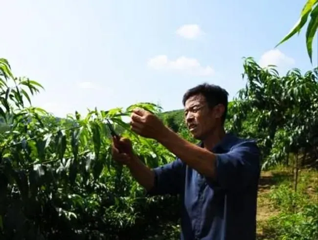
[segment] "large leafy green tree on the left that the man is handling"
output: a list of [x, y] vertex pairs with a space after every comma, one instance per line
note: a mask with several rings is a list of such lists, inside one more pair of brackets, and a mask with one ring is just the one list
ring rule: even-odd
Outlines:
[[5, 59], [0, 60], [0, 84], [0, 114], [8, 124], [0, 144], [1, 239], [126, 239], [164, 213], [164, 201], [151, 207], [152, 199], [144, 197], [127, 169], [112, 161], [104, 124], [109, 119], [115, 129], [121, 126], [140, 158], [159, 166], [173, 156], [133, 134], [122, 120], [136, 106], [157, 113], [156, 105], [94, 109], [85, 117], [75, 112], [58, 122], [44, 109], [25, 106], [42, 86], [15, 78]]

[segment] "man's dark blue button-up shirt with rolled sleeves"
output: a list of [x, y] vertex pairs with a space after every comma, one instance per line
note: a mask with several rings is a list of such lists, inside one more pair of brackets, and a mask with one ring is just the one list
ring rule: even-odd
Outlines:
[[215, 179], [177, 158], [154, 169], [147, 195], [181, 196], [181, 240], [255, 240], [259, 148], [227, 133], [211, 152], [217, 155]]

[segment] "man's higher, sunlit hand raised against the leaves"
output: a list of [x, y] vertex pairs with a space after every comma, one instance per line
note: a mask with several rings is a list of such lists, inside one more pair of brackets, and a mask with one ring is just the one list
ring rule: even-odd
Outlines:
[[154, 114], [144, 109], [134, 109], [130, 122], [132, 131], [146, 138], [159, 140], [168, 130]]

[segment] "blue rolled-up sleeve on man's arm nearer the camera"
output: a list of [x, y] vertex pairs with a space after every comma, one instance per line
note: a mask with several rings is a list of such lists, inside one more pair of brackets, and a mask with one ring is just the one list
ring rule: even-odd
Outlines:
[[255, 141], [244, 141], [228, 153], [216, 154], [216, 182], [223, 189], [241, 190], [258, 184], [260, 150]]

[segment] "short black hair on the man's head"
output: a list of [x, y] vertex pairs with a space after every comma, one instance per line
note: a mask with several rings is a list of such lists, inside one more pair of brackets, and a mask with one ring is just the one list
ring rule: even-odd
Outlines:
[[205, 101], [207, 102], [207, 105], [209, 108], [213, 108], [214, 106], [218, 104], [222, 104], [225, 107], [225, 111], [222, 116], [222, 124], [224, 125], [225, 119], [227, 117], [227, 104], [228, 104], [228, 92], [224, 88], [213, 85], [213, 84], [207, 84], [203, 83], [196, 87], [192, 87], [188, 89], [182, 98], [182, 104], [185, 105], [186, 100], [188, 100], [189, 97], [192, 97], [194, 95], [202, 94], [205, 98]]

